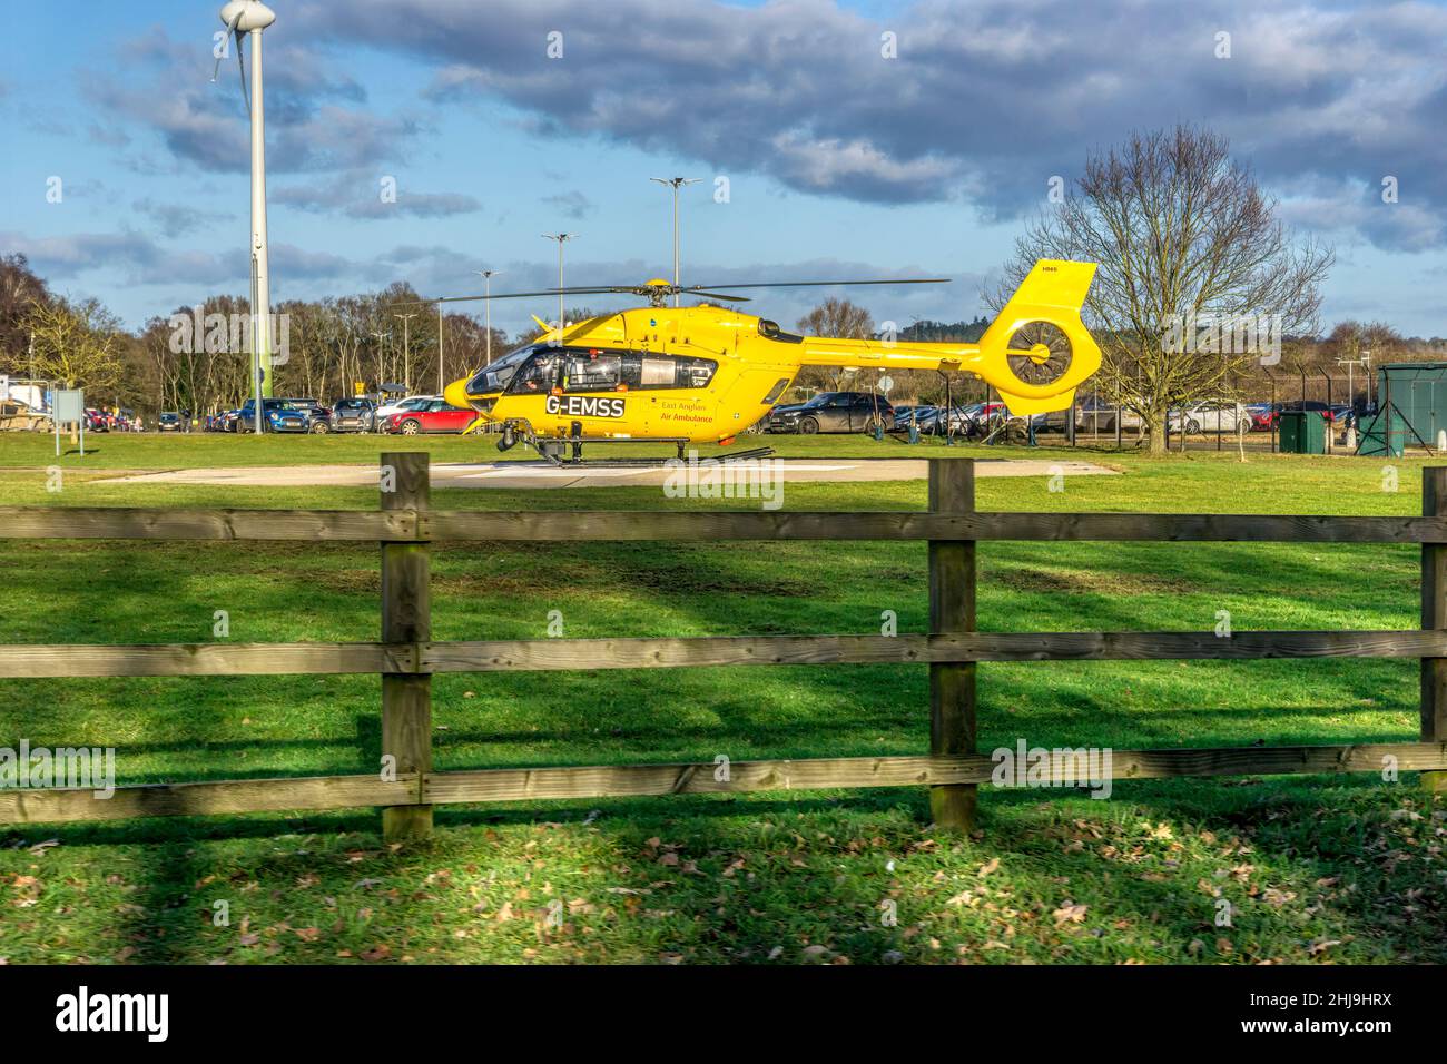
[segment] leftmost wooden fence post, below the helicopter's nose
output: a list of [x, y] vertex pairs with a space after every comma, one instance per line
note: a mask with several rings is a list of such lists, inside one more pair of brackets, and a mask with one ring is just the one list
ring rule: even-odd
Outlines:
[[[382, 510], [431, 508], [427, 452], [382, 455]], [[415, 539], [382, 543], [382, 641], [427, 643], [433, 637], [431, 552], [421, 531]], [[414, 656], [412, 667], [420, 667]], [[396, 759], [396, 774], [417, 773], [423, 796], [433, 770], [433, 677], [414, 672], [382, 676], [382, 753]], [[433, 829], [433, 806], [392, 805], [382, 809], [382, 837], [421, 838]]]

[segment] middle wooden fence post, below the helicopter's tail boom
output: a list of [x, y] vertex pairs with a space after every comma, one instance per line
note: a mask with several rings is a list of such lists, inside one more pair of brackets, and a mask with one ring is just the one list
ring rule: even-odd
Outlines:
[[[929, 463], [932, 512], [974, 512], [974, 459], [933, 459]], [[949, 634], [975, 630], [974, 540], [929, 541], [929, 630]], [[929, 753], [949, 757], [975, 753], [975, 663], [935, 662], [929, 666]], [[974, 783], [929, 789], [935, 824], [948, 831], [975, 827]]]

